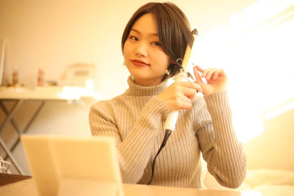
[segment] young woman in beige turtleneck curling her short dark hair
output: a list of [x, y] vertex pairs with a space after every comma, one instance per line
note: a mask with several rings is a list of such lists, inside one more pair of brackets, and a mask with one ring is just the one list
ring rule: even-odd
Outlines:
[[175, 130], [156, 159], [151, 185], [202, 188], [201, 152], [222, 186], [237, 188], [245, 178], [246, 156], [232, 126], [224, 71], [196, 66], [197, 83], [167, 87], [168, 79], [180, 71], [175, 60], [183, 59], [188, 44], [192, 47], [191, 31], [185, 14], [169, 2], [143, 5], [124, 29], [129, 88], [98, 101], [89, 114], [93, 136], [116, 138], [123, 183], [149, 182], [165, 120], [177, 109]]

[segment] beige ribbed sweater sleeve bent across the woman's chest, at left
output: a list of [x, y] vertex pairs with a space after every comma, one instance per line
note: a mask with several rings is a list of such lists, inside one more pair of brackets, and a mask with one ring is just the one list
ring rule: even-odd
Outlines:
[[132, 129], [122, 140], [109, 104], [107, 101], [100, 101], [91, 106], [91, 133], [93, 136], [116, 138], [123, 183], [136, 184], [143, 176], [150, 159], [150, 147], [153, 147], [155, 138], [160, 133], [162, 119], [170, 113], [169, 109], [164, 102], [154, 96], [144, 106]]

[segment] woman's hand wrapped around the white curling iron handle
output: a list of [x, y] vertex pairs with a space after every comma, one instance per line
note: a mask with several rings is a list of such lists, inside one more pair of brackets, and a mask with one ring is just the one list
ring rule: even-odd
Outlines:
[[192, 100], [197, 91], [202, 92], [202, 88], [195, 82], [174, 82], [157, 97], [165, 102], [170, 112], [178, 109], [188, 110], [192, 107]]

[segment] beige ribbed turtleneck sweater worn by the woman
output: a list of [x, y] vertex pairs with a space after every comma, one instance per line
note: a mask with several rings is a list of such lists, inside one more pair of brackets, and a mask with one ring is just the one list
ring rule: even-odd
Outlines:
[[[152, 161], [165, 135], [166, 104], [156, 95], [167, 87], [137, 85], [111, 100], [91, 106], [93, 136], [116, 138], [123, 183], [147, 184]], [[181, 110], [174, 132], [156, 158], [151, 185], [202, 188], [201, 153], [207, 169], [224, 187], [237, 188], [246, 173], [246, 156], [232, 125], [226, 92], [196, 96], [190, 110]]]

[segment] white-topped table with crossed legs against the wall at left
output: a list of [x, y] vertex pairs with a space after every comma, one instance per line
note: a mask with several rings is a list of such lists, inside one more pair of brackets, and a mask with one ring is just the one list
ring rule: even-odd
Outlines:
[[[17, 171], [25, 175], [23, 170], [21, 169], [20, 165], [15, 160], [14, 156], [12, 155], [13, 150], [20, 142], [21, 134], [25, 134], [28, 130], [30, 125], [33, 123], [37, 115], [40, 113], [42, 108], [44, 107], [46, 101], [49, 100], [60, 100], [60, 101], [67, 101], [71, 103], [78, 103], [79, 101], [83, 100], [98, 100], [99, 94], [94, 93], [91, 89], [87, 89], [85, 87], [76, 87], [76, 86], [38, 86], [34, 89], [28, 89], [24, 87], [0, 87], [0, 108], [4, 112], [6, 118], [0, 124], [0, 133], [4, 130], [4, 128], [10, 122], [14, 129], [18, 133], [18, 138], [12, 145], [12, 147], [8, 148], [4, 141], [0, 137], [0, 147], [2, 147], [6, 153], [5, 157], [2, 157], [3, 160], [7, 160], [9, 157], [11, 160], [11, 164], [15, 166]], [[10, 111], [7, 110], [3, 101], [5, 100], [14, 100], [15, 104]], [[20, 130], [17, 123], [14, 121], [13, 116], [18, 111], [19, 107], [25, 101], [34, 101], [38, 100], [40, 105], [36, 109], [36, 111], [31, 116], [28, 123], [25, 125], [23, 130]]]

